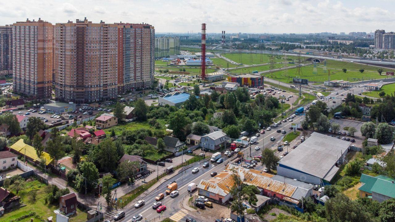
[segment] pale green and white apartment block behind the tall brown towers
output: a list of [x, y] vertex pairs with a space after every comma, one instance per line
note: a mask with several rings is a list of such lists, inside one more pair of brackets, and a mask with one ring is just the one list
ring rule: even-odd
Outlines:
[[180, 38], [162, 36], [155, 38], [155, 58], [180, 54]]

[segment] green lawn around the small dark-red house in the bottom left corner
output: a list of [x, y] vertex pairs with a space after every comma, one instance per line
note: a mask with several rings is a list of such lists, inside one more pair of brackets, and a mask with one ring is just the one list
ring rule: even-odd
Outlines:
[[[36, 179], [35, 177], [32, 177], [33, 179]], [[53, 213], [54, 210], [59, 209], [59, 204], [48, 204], [45, 203], [45, 187], [47, 186], [44, 183], [41, 183], [38, 180], [30, 181], [25, 183], [26, 186], [25, 188], [19, 192], [19, 196], [21, 196], [21, 202], [23, 200], [23, 203], [26, 204], [26, 206], [21, 207], [19, 209], [16, 209], [14, 211], [11, 211], [9, 213], [4, 214], [2, 216], [1, 221], [10, 221], [10, 220], [15, 220], [16, 218], [19, 218], [21, 216], [30, 214], [30, 213], [37, 213], [39, 218], [42, 220], [47, 220], [49, 216], [53, 216], [54, 219], [56, 218], [56, 214]], [[33, 200], [32, 197], [30, 196], [30, 193], [32, 190], [37, 191], [37, 196], [36, 199]], [[35, 218], [34, 216], [29, 216], [27, 218], [24, 218], [22, 220], [19, 220], [20, 222], [30, 222], [30, 218], [34, 218], [34, 222], [41, 222], [38, 218]], [[87, 214], [84, 212], [81, 212], [77, 208], [77, 215], [74, 217], [70, 218], [70, 222], [80, 222], [80, 221], [85, 221], [87, 218]]]

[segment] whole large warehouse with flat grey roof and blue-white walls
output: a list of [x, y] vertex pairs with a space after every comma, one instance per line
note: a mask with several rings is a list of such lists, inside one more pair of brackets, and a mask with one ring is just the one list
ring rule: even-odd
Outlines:
[[329, 184], [350, 145], [351, 142], [313, 132], [278, 161], [277, 175], [312, 184]]

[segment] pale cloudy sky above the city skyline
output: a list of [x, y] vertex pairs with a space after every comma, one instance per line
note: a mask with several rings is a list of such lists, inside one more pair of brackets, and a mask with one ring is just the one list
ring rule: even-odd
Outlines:
[[55, 23], [148, 23], [156, 32], [310, 33], [395, 31], [395, 0], [1, 0], [0, 25], [41, 19]]

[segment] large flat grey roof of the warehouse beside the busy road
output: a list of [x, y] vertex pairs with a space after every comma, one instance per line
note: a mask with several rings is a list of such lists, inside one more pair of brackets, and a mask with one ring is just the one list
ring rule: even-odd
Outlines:
[[351, 142], [313, 132], [278, 164], [330, 181], [338, 170], [335, 166]]

